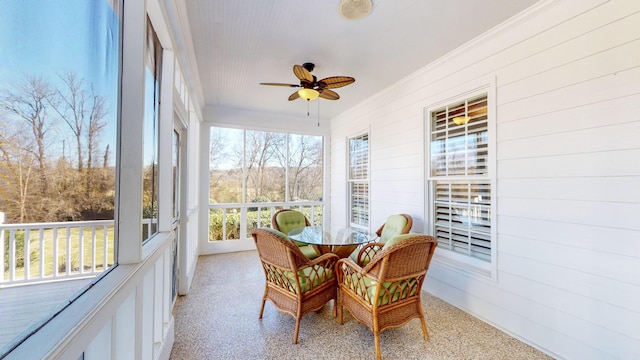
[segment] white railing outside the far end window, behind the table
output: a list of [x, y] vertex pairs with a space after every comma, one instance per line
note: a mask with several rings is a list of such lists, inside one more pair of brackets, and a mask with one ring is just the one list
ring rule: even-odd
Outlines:
[[252, 229], [271, 227], [271, 218], [280, 209], [298, 210], [311, 225], [322, 225], [322, 201], [209, 204], [209, 241], [247, 239]]

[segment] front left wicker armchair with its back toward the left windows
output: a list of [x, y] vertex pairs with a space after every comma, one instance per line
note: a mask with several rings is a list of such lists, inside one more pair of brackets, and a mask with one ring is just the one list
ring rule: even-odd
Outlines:
[[258, 248], [266, 278], [259, 318], [262, 319], [265, 302], [271, 300], [276, 309], [296, 319], [293, 343], [297, 344], [300, 319], [305, 314], [320, 310], [333, 299], [333, 315], [336, 316], [337, 290], [333, 269], [339, 257], [325, 254], [310, 260], [277, 230], [254, 229], [251, 236]]

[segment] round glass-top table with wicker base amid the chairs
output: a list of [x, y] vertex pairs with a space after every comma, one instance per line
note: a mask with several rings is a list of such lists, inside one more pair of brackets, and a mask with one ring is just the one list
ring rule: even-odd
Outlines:
[[341, 258], [349, 256], [358, 245], [371, 242], [376, 235], [363, 233], [353, 228], [338, 230], [335, 236], [322, 230], [322, 226], [305, 226], [293, 229], [287, 234], [289, 239], [314, 245], [320, 254], [334, 253]]

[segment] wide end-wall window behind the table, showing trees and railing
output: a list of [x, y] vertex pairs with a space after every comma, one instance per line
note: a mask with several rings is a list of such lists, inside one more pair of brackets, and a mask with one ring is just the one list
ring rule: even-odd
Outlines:
[[246, 238], [295, 208], [322, 224], [322, 136], [212, 127], [209, 240]]

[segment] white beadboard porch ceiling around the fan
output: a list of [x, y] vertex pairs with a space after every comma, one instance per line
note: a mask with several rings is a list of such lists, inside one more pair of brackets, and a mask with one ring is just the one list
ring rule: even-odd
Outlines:
[[[195, 55], [191, 77], [202, 86], [203, 106], [306, 116], [306, 101], [287, 100], [296, 88], [259, 83], [298, 84], [293, 65], [312, 62], [316, 64], [312, 74], [318, 79], [337, 75], [356, 79], [334, 89], [339, 100], [320, 100], [323, 119], [536, 3], [373, 0], [367, 17], [347, 20], [338, 12], [340, 0], [175, 1], [186, 9], [192, 43], [185, 46]], [[310, 105], [312, 116], [317, 116], [318, 104]]]

